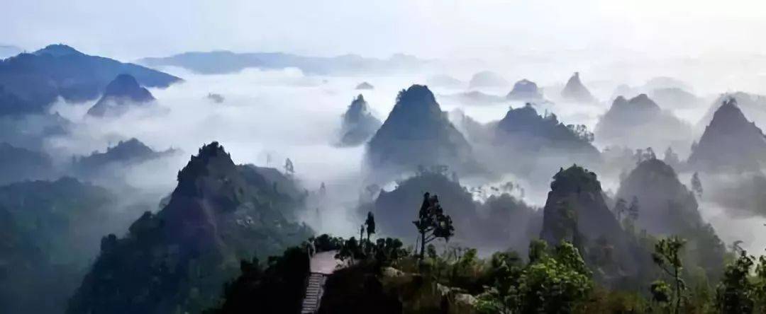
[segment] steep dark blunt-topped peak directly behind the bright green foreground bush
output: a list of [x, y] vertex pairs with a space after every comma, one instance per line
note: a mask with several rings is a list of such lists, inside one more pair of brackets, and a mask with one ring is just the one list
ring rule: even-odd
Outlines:
[[598, 270], [597, 280], [611, 285], [640, 278], [636, 277], [641, 271], [639, 256], [649, 256], [612, 215], [596, 174], [577, 166], [553, 176], [540, 238], [551, 245], [571, 241], [586, 263]]

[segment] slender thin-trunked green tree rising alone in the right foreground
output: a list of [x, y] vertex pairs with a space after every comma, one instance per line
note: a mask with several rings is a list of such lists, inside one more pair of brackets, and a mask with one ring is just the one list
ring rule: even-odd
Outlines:
[[[681, 278], [683, 262], [681, 261], [681, 249], [686, 241], [682, 238], [671, 237], [663, 238], [654, 244], [654, 253], [652, 259], [665, 274], [673, 279], [673, 302], [675, 303], [673, 313], [678, 314], [681, 309], [682, 293], [686, 290], [686, 283]], [[652, 293], [655, 293], [655, 284], [652, 284]]]

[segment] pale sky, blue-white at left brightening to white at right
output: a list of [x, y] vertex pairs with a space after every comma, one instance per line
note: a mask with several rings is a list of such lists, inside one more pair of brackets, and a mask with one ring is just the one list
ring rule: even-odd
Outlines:
[[135, 60], [189, 50], [502, 59], [760, 54], [760, 1], [0, 0], [0, 44]]

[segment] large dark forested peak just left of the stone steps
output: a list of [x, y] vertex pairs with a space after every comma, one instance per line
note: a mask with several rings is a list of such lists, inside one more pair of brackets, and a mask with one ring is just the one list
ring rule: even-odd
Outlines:
[[201, 147], [178, 172], [178, 186], [162, 210], [146, 212], [124, 238], [103, 238], [67, 312], [200, 312], [211, 306], [242, 259], [279, 254], [311, 234], [287, 218], [303, 200], [279, 191], [256, 168], [235, 165], [217, 142]]

